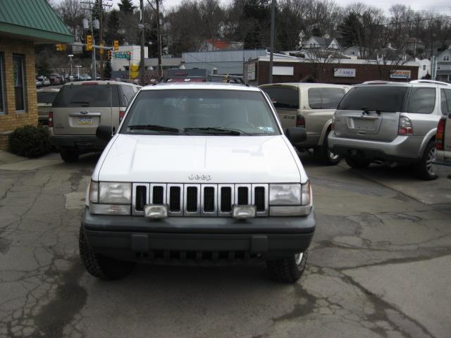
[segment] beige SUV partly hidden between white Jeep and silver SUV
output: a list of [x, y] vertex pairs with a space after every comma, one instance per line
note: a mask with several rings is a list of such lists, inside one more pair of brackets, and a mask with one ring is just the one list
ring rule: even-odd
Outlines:
[[296, 144], [297, 149], [314, 149], [315, 157], [323, 165], [335, 165], [340, 155], [333, 154], [328, 147], [328, 134], [333, 113], [349, 86], [320, 83], [276, 83], [263, 84], [276, 107], [282, 127], [303, 127], [307, 140]]

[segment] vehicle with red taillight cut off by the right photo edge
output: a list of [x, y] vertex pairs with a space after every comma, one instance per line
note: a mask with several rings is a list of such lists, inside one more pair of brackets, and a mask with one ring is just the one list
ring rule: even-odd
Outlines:
[[435, 164], [451, 165], [451, 89], [440, 89], [440, 103], [444, 115], [435, 136]]

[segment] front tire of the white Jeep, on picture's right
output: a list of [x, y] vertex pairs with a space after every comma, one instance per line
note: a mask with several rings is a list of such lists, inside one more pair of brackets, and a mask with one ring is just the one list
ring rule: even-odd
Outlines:
[[307, 256], [308, 251], [306, 250], [289, 257], [266, 261], [269, 277], [277, 282], [296, 282], [302, 276], [302, 273], [304, 273]]

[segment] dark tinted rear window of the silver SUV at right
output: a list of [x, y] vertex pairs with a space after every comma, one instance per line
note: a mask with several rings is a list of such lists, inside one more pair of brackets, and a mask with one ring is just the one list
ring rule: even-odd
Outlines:
[[362, 109], [397, 112], [402, 111], [408, 87], [372, 86], [354, 87], [338, 106], [342, 111], [361, 111]]

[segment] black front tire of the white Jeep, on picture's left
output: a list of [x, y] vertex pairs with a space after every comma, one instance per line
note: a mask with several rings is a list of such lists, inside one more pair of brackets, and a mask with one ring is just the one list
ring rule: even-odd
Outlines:
[[101, 280], [118, 280], [131, 273], [135, 268], [135, 262], [118, 261], [95, 253], [87, 242], [83, 227], [80, 227], [78, 246], [80, 258], [87, 272]]

